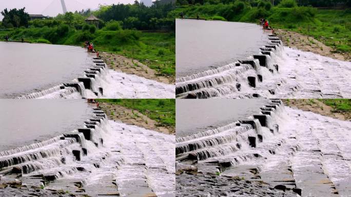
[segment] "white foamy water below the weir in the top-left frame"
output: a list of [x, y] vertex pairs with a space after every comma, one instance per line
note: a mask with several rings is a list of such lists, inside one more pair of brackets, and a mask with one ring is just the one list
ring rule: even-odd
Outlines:
[[[77, 82], [75, 80], [75, 82]], [[85, 89], [82, 86], [82, 93], [76, 88], [66, 87], [60, 89], [57, 86], [52, 91], [33, 93], [40, 95], [38, 99], [79, 99], [82, 94], [90, 99], [108, 98], [108, 99], [174, 99], [175, 86], [164, 84], [157, 81], [149, 80], [133, 74], [117, 72], [111, 69], [104, 70], [100, 75], [95, 74], [92, 79], [92, 90]], [[103, 94], [99, 92], [99, 87], [103, 88]], [[51, 90], [51, 89], [50, 89]], [[97, 93], [94, 94], [94, 92]], [[28, 97], [28, 95], [26, 95]], [[33, 96], [34, 97], [34, 96]]]

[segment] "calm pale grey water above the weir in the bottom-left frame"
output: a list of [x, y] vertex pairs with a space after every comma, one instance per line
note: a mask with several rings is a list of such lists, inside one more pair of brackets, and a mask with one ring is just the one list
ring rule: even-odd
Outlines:
[[81, 126], [84, 100], [0, 100], [0, 151], [49, 139]]

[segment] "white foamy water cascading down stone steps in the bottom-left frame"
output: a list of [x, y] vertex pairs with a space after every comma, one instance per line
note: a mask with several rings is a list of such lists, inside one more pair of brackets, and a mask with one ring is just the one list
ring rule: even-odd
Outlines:
[[[92, 110], [84, 123], [47, 141], [1, 151], [0, 182], [12, 181], [13, 174], [3, 173], [19, 167], [23, 176], [18, 179], [28, 187], [50, 180], [44, 191], [174, 196], [174, 135], [109, 121], [100, 110]], [[7, 192], [1, 194], [12, 194]]]

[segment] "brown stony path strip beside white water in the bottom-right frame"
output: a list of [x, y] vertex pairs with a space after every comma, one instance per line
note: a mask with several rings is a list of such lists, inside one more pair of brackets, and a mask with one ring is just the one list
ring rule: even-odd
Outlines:
[[303, 111], [311, 111], [342, 121], [351, 121], [351, 113], [336, 112], [332, 107], [325, 105], [317, 99], [282, 99], [282, 101], [289, 107], [298, 108]]

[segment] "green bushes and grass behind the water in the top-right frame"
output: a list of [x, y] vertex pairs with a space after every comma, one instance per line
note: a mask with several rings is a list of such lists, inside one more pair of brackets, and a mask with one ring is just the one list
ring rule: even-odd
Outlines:
[[[210, 20], [257, 23], [262, 17], [268, 19], [273, 28], [295, 31], [313, 36], [330, 46], [334, 52], [351, 52], [351, 1], [274, 1], [253, 0], [178, 0], [177, 8], [169, 13], [179, 18], [197, 17]], [[328, 8], [315, 8], [315, 7]], [[335, 6], [338, 7], [335, 8]], [[342, 7], [342, 9], [339, 9]], [[293, 40], [294, 37], [291, 37]]]

